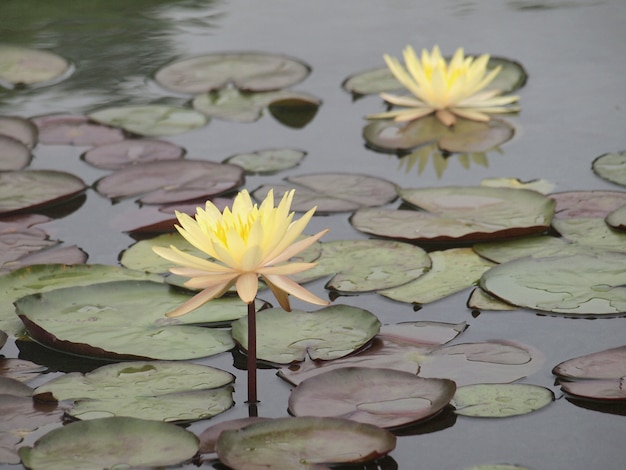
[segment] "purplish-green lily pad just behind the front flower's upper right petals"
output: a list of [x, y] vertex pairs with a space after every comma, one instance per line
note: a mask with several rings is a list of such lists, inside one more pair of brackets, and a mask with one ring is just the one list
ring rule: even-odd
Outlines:
[[289, 184], [261, 186], [252, 195], [261, 201], [265, 199], [270, 189], [274, 190], [275, 197], [280, 197], [295, 187], [297, 190], [291, 209], [306, 212], [317, 206], [318, 214], [382, 206], [398, 197], [394, 183], [368, 175], [316, 173], [290, 176], [286, 181]]

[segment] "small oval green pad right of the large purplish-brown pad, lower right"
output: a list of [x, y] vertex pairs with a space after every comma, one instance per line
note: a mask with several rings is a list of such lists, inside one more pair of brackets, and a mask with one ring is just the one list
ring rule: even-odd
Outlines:
[[476, 418], [506, 418], [537, 411], [554, 401], [547, 388], [531, 384], [474, 384], [459, 387], [455, 413]]

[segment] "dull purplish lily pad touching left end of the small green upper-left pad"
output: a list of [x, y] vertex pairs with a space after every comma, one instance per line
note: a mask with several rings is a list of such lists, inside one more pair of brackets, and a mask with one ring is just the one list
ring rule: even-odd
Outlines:
[[51, 114], [32, 119], [39, 141], [48, 145], [103, 145], [124, 139], [124, 131], [90, 122], [85, 116]]

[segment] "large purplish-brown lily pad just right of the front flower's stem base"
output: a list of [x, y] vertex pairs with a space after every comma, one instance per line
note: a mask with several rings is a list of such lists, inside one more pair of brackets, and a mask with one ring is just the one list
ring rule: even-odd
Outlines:
[[301, 382], [289, 396], [289, 411], [294, 416], [347, 418], [395, 428], [439, 413], [455, 390], [456, 384], [449, 379], [425, 379], [393, 369], [342, 367]]

